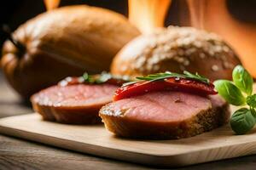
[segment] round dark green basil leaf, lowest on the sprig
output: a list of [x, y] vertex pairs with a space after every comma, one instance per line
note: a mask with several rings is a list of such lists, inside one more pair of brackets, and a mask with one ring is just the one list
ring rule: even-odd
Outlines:
[[254, 125], [255, 119], [247, 108], [241, 108], [231, 116], [230, 126], [236, 134], [247, 133]]

